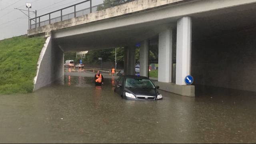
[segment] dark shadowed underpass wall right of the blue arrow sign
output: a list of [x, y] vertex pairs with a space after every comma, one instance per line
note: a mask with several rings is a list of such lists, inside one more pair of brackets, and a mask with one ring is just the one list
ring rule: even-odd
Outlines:
[[195, 84], [256, 92], [256, 32], [234, 32], [192, 43]]

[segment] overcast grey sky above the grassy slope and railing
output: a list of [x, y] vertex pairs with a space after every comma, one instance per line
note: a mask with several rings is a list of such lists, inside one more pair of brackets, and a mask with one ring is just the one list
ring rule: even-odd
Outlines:
[[[28, 17], [19, 10], [14, 9], [20, 8], [27, 10], [26, 2], [31, 2], [31, 10], [37, 10], [37, 15], [40, 16], [82, 1], [84, 0], [0, 0], [0, 40], [27, 33]], [[103, 0], [92, 0], [92, 6], [101, 4], [102, 2]], [[78, 6], [76, 10], [88, 8], [89, 5], [90, 3], [86, 2]], [[71, 10], [72, 9], [66, 10], [64, 13], [68, 13]], [[34, 18], [32, 12], [30, 15]], [[54, 16], [52, 16], [52, 18], [53, 17]]]

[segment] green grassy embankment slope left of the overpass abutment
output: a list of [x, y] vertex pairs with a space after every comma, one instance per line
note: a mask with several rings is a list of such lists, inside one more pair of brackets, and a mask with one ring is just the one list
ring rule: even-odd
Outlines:
[[32, 92], [44, 42], [25, 36], [0, 41], [0, 94]]

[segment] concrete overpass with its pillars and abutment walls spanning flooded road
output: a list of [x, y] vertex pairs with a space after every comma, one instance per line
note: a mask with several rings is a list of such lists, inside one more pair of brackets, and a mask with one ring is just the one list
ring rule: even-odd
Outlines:
[[[160, 88], [194, 96], [196, 84], [256, 91], [256, 0], [135, 0], [28, 30], [48, 37], [38, 61], [35, 90], [63, 76], [63, 52], [125, 47], [125, 73], [134, 73], [141, 42], [147, 76], [148, 40], [158, 41]], [[175, 57], [176, 56], [176, 57]], [[176, 76], [172, 63], [176, 59]]]

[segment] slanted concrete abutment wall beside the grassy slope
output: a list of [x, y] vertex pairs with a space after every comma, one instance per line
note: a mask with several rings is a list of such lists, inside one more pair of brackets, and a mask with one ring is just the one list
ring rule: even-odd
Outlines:
[[34, 91], [51, 84], [64, 76], [64, 54], [54, 46], [51, 37], [46, 39], [38, 59], [37, 74], [34, 78]]

